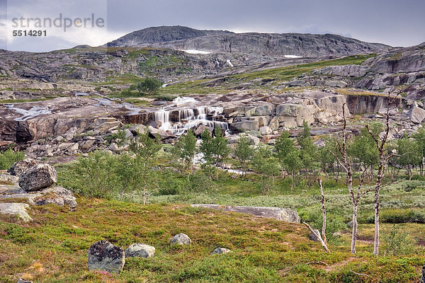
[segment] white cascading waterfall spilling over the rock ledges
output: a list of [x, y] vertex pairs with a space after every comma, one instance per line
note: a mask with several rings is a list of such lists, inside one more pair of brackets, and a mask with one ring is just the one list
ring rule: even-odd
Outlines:
[[[178, 103], [176, 105], [183, 104], [182, 98], [176, 98]], [[196, 101], [193, 98], [189, 98], [190, 102]], [[178, 122], [170, 122], [171, 112], [178, 111]], [[198, 115], [195, 115], [195, 112]], [[154, 120], [161, 122], [159, 129], [169, 131], [172, 134], [179, 136], [186, 132], [188, 129], [199, 127], [204, 125], [205, 127], [225, 129], [226, 133], [229, 132], [229, 125], [227, 122], [218, 121], [218, 117], [222, 114], [222, 107], [195, 107], [195, 108], [183, 108], [179, 110], [158, 110], [154, 112]]]

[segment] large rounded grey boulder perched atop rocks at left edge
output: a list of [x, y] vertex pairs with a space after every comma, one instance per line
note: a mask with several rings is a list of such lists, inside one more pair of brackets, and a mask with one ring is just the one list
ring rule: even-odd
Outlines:
[[49, 164], [39, 164], [28, 169], [19, 177], [19, 186], [26, 191], [41, 190], [57, 182], [55, 168]]

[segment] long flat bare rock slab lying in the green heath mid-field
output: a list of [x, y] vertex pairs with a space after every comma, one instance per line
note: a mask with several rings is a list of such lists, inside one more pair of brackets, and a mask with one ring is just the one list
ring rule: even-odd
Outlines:
[[300, 223], [301, 221], [300, 216], [295, 210], [282, 207], [231, 207], [219, 204], [191, 204], [191, 207], [205, 207], [225, 212], [252, 214], [264, 218], [278, 219], [289, 223]]

